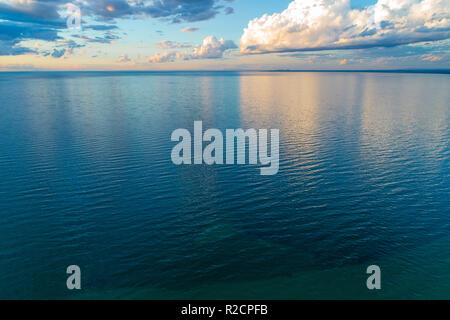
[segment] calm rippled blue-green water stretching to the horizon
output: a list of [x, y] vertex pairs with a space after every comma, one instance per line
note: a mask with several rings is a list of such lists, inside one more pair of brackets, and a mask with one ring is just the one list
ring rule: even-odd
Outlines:
[[[0, 298], [450, 298], [449, 89], [448, 74], [0, 73]], [[279, 129], [279, 173], [173, 165], [170, 135], [195, 120]]]

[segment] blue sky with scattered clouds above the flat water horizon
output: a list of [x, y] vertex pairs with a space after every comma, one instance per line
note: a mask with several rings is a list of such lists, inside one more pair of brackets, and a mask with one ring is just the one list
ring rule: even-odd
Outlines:
[[0, 71], [281, 69], [450, 69], [450, 0], [0, 0]]

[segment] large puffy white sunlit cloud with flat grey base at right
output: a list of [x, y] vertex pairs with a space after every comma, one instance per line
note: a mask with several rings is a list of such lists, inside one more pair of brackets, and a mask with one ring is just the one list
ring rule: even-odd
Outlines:
[[251, 20], [242, 53], [390, 47], [450, 38], [449, 0], [295, 0], [282, 13]]

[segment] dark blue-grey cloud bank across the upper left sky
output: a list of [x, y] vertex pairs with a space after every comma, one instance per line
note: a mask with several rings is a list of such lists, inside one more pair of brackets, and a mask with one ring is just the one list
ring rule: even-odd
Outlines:
[[[69, 1], [70, 2], [70, 1]], [[55, 41], [66, 30], [67, 0], [0, 0], [0, 55], [33, 53], [17, 46], [23, 40]], [[91, 32], [118, 29], [119, 18], [161, 18], [173, 23], [203, 21], [215, 17], [228, 0], [73, 0], [83, 19], [95, 22], [84, 26]], [[99, 22], [103, 22], [99, 24]], [[104, 22], [107, 22], [106, 24]], [[186, 28], [194, 32], [198, 28]], [[112, 34], [90, 36], [88, 42], [111, 43]], [[59, 53], [59, 51], [58, 51]], [[55, 53], [58, 55], [58, 53]]]

